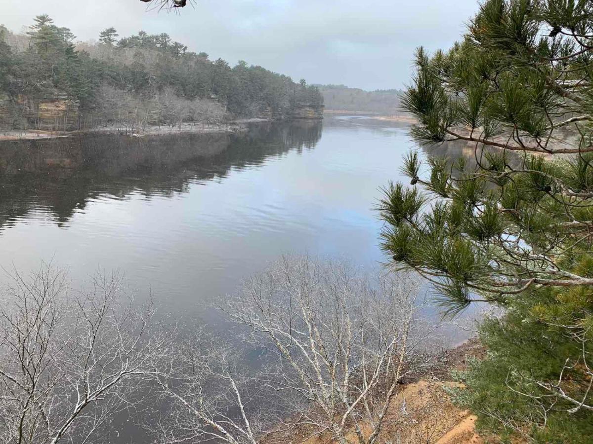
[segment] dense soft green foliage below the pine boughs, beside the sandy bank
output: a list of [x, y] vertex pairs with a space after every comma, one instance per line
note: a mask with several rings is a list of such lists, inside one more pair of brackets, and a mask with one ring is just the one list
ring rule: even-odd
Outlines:
[[591, 375], [583, 356], [593, 353], [593, 343], [582, 334], [591, 332], [592, 296], [582, 288], [539, 290], [513, 300], [502, 319], [484, 321], [480, 342], [487, 347], [486, 358], [470, 361], [457, 374], [464, 388], [454, 391], [456, 403], [478, 414], [480, 430], [542, 444], [589, 442], [593, 411], [575, 411], [575, 403], [544, 387], [557, 384], [591, 405]]

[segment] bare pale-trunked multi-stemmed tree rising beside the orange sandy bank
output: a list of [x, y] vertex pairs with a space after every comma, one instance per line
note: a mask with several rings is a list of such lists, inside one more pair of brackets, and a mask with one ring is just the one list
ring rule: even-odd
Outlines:
[[371, 444], [403, 378], [428, 364], [419, 353], [432, 331], [418, 316], [420, 287], [410, 275], [371, 283], [345, 263], [285, 257], [224, 310], [285, 365], [266, 384], [291, 394], [293, 436]]

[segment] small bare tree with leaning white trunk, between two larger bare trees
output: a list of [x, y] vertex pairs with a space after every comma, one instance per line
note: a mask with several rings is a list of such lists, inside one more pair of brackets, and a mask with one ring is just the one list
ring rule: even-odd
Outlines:
[[275, 392], [258, 383], [254, 368], [239, 364], [237, 349], [200, 330], [170, 351], [154, 373], [164, 410], [160, 443], [256, 444], [278, 420]]

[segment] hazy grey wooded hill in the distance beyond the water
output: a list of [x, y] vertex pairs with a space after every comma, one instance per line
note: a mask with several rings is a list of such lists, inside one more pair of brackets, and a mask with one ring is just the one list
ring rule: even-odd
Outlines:
[[345, 85], [316, 85], [323, 95], [327, 112], [362, 112], [366, 114], [404, 114], [400, 108], [399, 89], [364, 91]]

